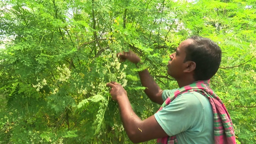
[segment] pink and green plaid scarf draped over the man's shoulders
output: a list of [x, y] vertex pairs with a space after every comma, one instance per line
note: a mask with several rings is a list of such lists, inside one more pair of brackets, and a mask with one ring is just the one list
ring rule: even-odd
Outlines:
[[[214, 142], [215, 144], [235, 144], [235, 132], [233, 129], [233, 123], [229, 116], [226, 107], [219, 97], [209, 88], [208, 81], [197, 81], [191, 85], [181, 87], [174, 92], [174, 95], [169, 96], [166, 101], [162, 104], [158, 111], [161, 111], [163, 107], [166, 107], [173, 101], [177, 96], [185, 92], [199, 92], [200, 94], [207, 97], [212, 105], [214, 114]], [[177, 144], [176, 136], [163, 137], [157, 140], [158, 144]]]

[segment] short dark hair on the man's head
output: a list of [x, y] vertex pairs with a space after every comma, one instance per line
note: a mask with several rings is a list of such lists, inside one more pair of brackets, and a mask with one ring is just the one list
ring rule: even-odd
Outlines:
[[222, 58], [220, 47], [209, 38], [192, 36], [188, 39], [193, 39], [193, 43], [185, 48], [184, 62], [196, 63], [194, 79], [198, 81], [212, 78], [220, 66]]

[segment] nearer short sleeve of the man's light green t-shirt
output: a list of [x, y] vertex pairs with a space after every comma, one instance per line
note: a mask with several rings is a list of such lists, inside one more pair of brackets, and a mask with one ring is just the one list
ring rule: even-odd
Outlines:
[[156, 121], [169, 136], [192, 128], [202, 118], [202, 105], [196, 96], [185, 93], [176, 97], [168, 106], [154, 114]]

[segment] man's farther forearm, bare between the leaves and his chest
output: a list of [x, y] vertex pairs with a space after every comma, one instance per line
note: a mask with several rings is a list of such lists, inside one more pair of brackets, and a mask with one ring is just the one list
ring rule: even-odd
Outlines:
[[139, 71], [139, 76], [142, 86], [147, 88], [145, 90], [145, 93], [149, 97], [149, 99], [161, 105], [164, 102], [161, 95], [159, 95], [161, 89], [158, 84], [156, 84], [153, 77], [149, 74], [149, 71], [147, 69]]

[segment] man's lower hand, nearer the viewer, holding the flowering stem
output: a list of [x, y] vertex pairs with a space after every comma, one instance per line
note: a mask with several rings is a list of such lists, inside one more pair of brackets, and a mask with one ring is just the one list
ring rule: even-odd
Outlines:
[[114, 101], [118, 101], [118, 98], [120, 97], [127, 96], [126, 90], [124, 90], [124, 88], [117, 82], [112, 81], [107, 83], [107, 86], [111, 87], [110, 95]]

